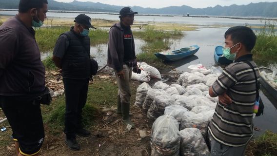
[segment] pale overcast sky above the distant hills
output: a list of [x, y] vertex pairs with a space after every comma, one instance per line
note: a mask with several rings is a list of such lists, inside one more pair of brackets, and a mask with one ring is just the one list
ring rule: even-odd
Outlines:
[[[60, 2], [72, 2], [73, 0], [56, 0]], [[188, 5], [193, 8], [205, 8], [209, 6], [229, 6], [232, 4], [246, 5], [251, 2], [276, 2], [277, 0], [78, 0], [78, 1], [92, 1], [111, 5], [121, 6], [141, 6], [151, 8], [162, 8], [167, 6], [181, 6]]]

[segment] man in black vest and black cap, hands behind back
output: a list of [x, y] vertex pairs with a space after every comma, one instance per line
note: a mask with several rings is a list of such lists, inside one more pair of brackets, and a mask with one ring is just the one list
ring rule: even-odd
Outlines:
[[88, 37], [91, 18], [80, 14], [75, 18], [70, 31], [59, 36], [53, 51], [53, 61], [62, 69], [65, 90], [65, 142], [71, 150], [79, 150], [76, 135], [88, 137], [90, 132], [83, 129], [82, 108], [86, 103], [90, 77], [90, 38]]

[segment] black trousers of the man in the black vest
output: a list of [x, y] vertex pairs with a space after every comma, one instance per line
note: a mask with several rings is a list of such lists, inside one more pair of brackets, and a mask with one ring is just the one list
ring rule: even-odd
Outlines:
[[86, 103], [89, 79], [63, 78], [65, 91], [64, 133], [67, 138], [75, 138], [82, 128], [82, 108]]

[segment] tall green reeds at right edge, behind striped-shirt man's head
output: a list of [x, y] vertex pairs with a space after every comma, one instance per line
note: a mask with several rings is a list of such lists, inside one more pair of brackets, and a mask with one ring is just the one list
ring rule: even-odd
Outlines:
[[259, 64], [277, 62], [277, 34], [274, 24], [265, 23], [257, 33], [256, 45], [252, 52]]

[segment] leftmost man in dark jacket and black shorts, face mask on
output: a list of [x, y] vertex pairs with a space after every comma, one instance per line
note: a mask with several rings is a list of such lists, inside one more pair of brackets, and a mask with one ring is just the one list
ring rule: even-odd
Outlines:
[[38, 156], [44, 128], [40, 103], [45, 68], [35, 30], [46, 18], [47, 0], [20, 0], [19, 13], [0, 26], [0, 107], [13, 130], [16, 156]]

